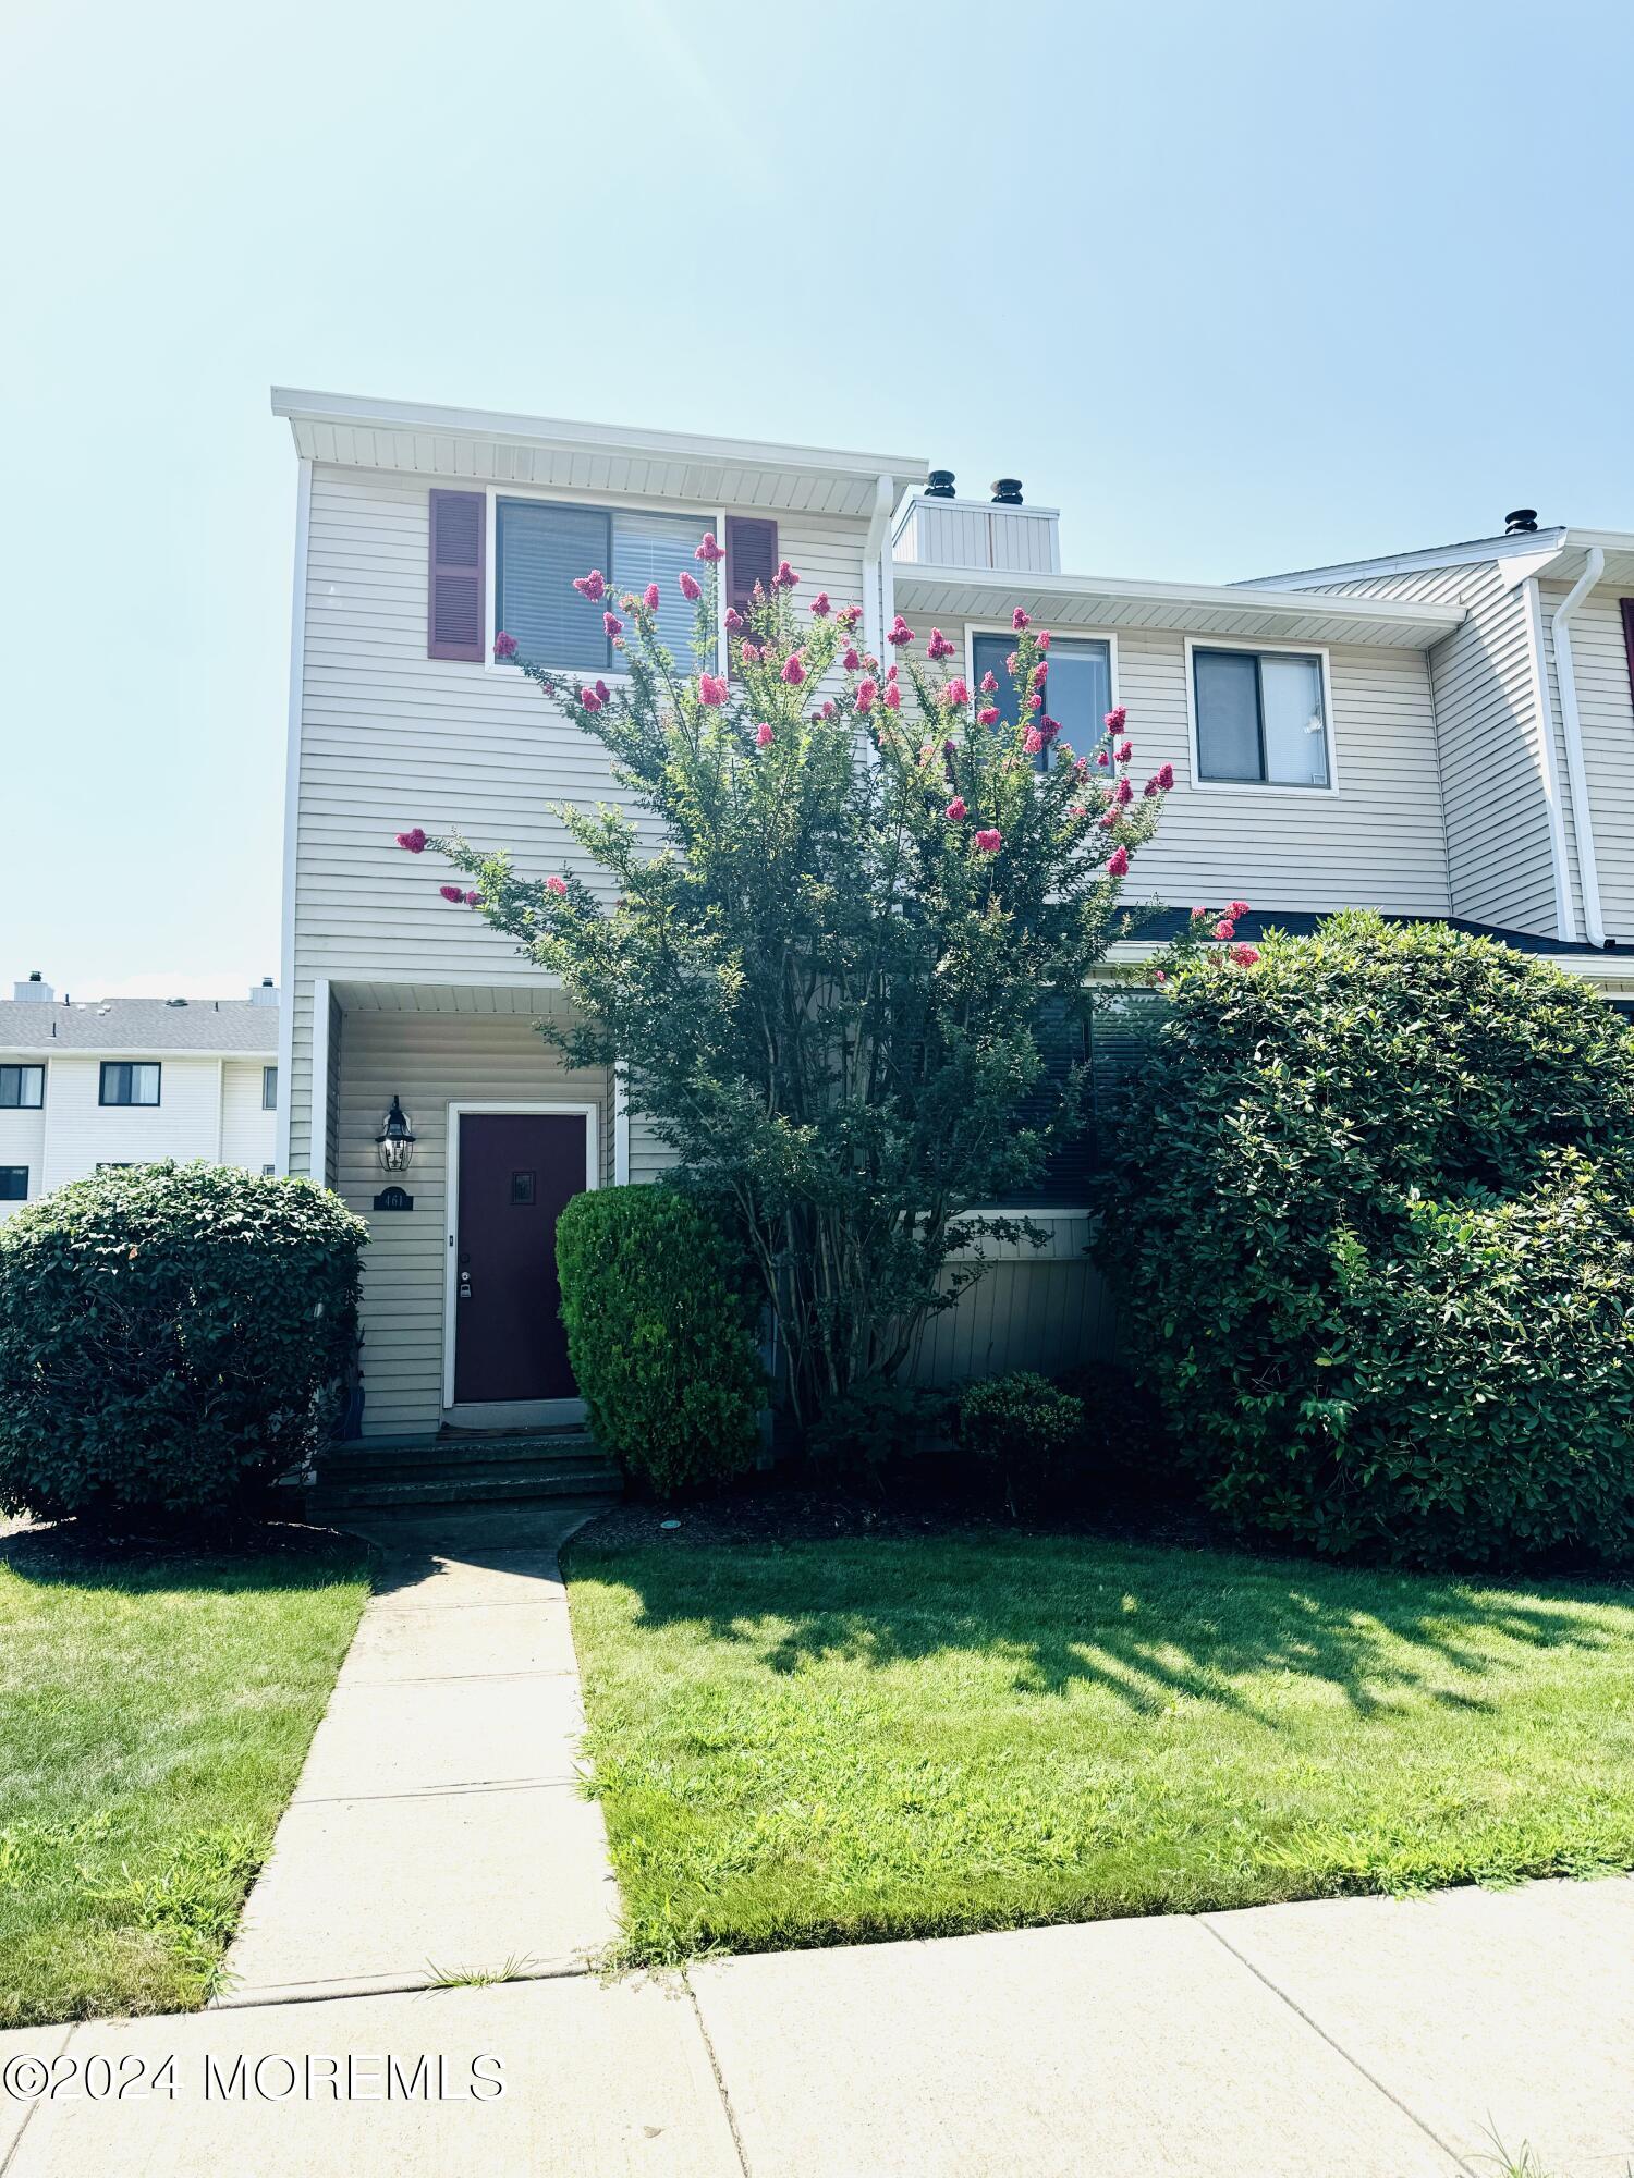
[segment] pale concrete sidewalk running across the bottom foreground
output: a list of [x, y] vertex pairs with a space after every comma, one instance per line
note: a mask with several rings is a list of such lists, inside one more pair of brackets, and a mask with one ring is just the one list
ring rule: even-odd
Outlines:
[[0, 2080], [57, 2052], [4, 2178], [1623, 2178], [1634, 1880], [87, 2023]]

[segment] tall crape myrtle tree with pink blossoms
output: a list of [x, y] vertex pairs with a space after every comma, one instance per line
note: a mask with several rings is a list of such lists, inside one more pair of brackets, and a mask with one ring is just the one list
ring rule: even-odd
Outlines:
[[[630, 1111], [741, 1228], [806, 1429], [900, 1368], [985, 1241], [1044, 1237], [972, 1211], [1024, 1196], [1083, 1122], [1089, 976], [1133, 928], [1124, 884], [1174, 773], [1135, 780], [1122, 710], [1061, 741], [1050, 636], [1020, 608], [1015, 727], [937, 629], [922, 656], [898, 616], [882, 662], [858, 605], [795, 605], [789, 562], [728, 610], [721, 675], [721, 558], [704, 536], [680, 575], [691, 669], [658, 640], [658, 586], [614, 597], [597, 571], [575, 588], [606, 608], [617, 686], [495, 640], [612, 760], [623, 806], [558, 812], [577, 867], [523, 876], [418, 825], [399, 843], [440, 849], [466, 880], [444, 900], [560, 976], [573, 1019], [542, 1032], [569, 1065], [630, 1065]], [[1192, 930], [1233, 937], [1200, 910]]]

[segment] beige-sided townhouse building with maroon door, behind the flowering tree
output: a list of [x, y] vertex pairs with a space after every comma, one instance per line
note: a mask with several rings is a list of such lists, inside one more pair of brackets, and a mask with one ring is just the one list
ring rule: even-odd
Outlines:
[[[564, 1072], [534, 1032], [562, 1004], [551, 978], [477, 915], [451, 913], [438, 873], [394, 845], [412, 823], [460, 830], [542, 876], [571, 856], [551, 806], [614, 797], [603, 751], [492, 662], [503, 627], [545, 664], [612, 677], [599, 610], [582, 612], [571, 590], [590, 566], [621, 588], [656, 579], [669, 599], [708, 527], [725, 544], [728, 601], [789, 558], [806, 590], [861, 601], [869, 649], [900, 610], [922, 634], [937, 625], [961, 643], [972, 680], [1011, 647], [1022, 603], [1054, 632], [1050, 708], [1068, 741], [1124, 703], [1142, 762], [1174, 764], [1161, 834], [1139, 858], [1142, 897], [1242, 895], [1257, 910], [1244, 934], [1340, 906], [1501, 926], [1608, 995], [1634, 993], [1634, 978], [1621, 980], [1634, 963], [1582, 937], [1597, 928], [1580, 876], [1588, 832], [1549, 799], [1547, 749], [1532, 758], [1536, 793], [1527, 784], [1525, 673], [1499, 656], [1479, 590], [1519, 582], [1525, 597], [1536, 577], [1536, 619], [1586, 564], [1575, 534], [1505, 538], [1484, 577], [1473, 549], [1423, 555], [1458, 573], [1407, 582], [1410, 595], [1377, 564], [1233, 586], [1078, 577], [1061, 573], [1050, 507], [1022, 505], [1020, 488], [961, 499], [919, 457], [333, 394], [279, 392], [275, 409], [298, 455], [279, 1157], [373, 1226], [370, 1435], [575, 1418], [560, 1337], [540, 1335], [556, 1318], [553, 1211], [577, 1187], [664, 1165], [617, 1082]], [[1619, 549], [1634, 553], [1634, 538]], [[1516, 573], [1516, 555], [1534, 564]], [[1625, 568], [1634, 558], [1608, 549], [1601, 575]], [[1593, 625], [1603, 619], [1601, 597]], [[1525, 640], [1547, 686], [1538, 710], [1558, 710], [1571, 684], [1560, 640], [1547, 627]], [[1627, 860], [1634, 937], [1634, 830], [1614, 747], [1630, 695], [1612, 666], [1597, 638], [1603, 725], [1588, 721], [1601, 701], [1588, 656], [1575, 688], [1584, 736], [1599, 734], [1601, 771], [1586, 760], [1588, 788], [1606, 793], [1593, 825], [1599, 882]], [[1571, 727], [1560, 734], [1564, 773]], [[1508, 767], [1497, 786], [1481, 784], [1484, 749]], [[1527, 836], [1534, 802], [1540, 847]], [[1571, 876], [1556, 915], [1549, 843], [1562, 825]], [[1488, 880], [1481, 841], [1510, 834], [1525, 867]], [[377, 1137], [394, 1098], [416, 1143], [412, 1165], [390, 1174]], [[924, 1374], [1050, 1366], [1105, 1342], [1081, 1180], [1063, 1167], [1028, 1211], [1050, 1246], [998, 1263], [930, 1326]]]

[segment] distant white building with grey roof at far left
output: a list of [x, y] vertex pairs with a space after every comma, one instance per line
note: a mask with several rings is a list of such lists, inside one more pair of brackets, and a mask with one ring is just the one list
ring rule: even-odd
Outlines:
[[279, 993], [0, 1000], [0, 1218], [100, 1165], [277, 1167]]

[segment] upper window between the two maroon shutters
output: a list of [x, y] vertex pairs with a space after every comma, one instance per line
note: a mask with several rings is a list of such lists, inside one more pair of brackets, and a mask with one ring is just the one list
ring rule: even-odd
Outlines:
[[[612, 647], [603, 614], [619, 614], [625, 590], [641, 592], [656, 582], [658, 634], [686, 673], [697, 608], [682, 597], [680, 575], [697, 573], [697, 540], [708, 527], [697, 514], [501, 499], [495, 505], [495, 627], [516, 636], [521, 656], [540, 666], [608, 673], [623, 664], [623, 651]], [[608, 597], [597, 603], [573, 588], [590, 568], [608, 582]]]

